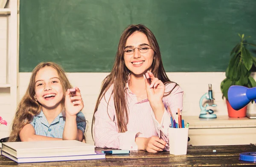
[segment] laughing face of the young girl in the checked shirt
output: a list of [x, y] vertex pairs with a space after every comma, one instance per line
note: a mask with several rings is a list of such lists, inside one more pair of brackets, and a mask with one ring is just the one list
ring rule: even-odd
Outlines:
[[42, 109], [61, 107], [64, 93], [56, 69], [46, 66], [35, 75], [35, 98]]

